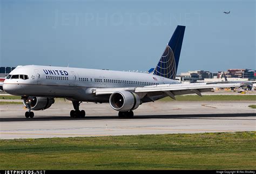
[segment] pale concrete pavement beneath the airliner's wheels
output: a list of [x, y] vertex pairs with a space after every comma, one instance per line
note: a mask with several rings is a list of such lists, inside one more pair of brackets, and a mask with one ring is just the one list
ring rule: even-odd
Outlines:
[[69, 116], [72, 104], [57, 101], [25, 119], [22, 105], [0, 105], [0, 138], [116, 136], [211, 133], [256, 130], [255, 101], [150, 102], [134, 110], [133, 119], [119, 119], [109, 103], [82, 103], [84, 119]]

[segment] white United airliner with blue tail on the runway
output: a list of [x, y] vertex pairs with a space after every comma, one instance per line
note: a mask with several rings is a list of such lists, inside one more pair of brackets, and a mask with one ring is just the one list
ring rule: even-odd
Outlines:
[[[18, 66], [5, 79], [5, 92], [21, 96], [28, 112], [25, 117], [33, 117], [31, 110], [44, 110], [54, 102], [54, 98], [71, 100], [74, 110], [71, 117], [85, 117], [79, 110], [81, 102], [109, 102], [119, 112], [119, 117], [133, 117], [134, 109], [145, 102], [166, 96], [209, 92], [214, 87], [239, 87], [239, 83], [181, 84], [174, 80], [178, 68], [185, 26], [177, 26], [163, 55], [152, 73], [120, 72], [103, 69], [84, 69], [53, 66]], [[171, 104], [170, 104], [171, 105]]]

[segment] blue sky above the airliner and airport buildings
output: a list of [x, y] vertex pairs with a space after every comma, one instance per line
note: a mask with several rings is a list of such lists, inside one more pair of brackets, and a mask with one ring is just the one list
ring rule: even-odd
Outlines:
[[185, 25], [178, 73], [256, 69], [254, 0], [0, 2], [0, 66], [147, 71]]

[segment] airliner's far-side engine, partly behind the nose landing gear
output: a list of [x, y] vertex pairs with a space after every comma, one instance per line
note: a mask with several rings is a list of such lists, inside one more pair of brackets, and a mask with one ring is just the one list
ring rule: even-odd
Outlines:
[[23, 104], [28, 108], [30, 103], [31, 110], [44, 110], [50, 108], [50, 106], [55, 102], [53, 98], [41, 98], [35, 96], [29, 96], [23, 100]]

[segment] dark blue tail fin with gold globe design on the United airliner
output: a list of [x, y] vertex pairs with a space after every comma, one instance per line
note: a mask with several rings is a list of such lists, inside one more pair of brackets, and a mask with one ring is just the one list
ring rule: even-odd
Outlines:
[[184, 32], [185, 26], [178, 25], [156, 68], [154, 68], [153, 74], [163, 76], [164, 78], [175, 79]]

